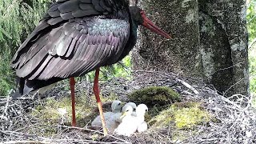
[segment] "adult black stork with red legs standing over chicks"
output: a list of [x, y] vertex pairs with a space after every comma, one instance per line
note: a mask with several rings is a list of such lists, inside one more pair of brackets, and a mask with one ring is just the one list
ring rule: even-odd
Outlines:
[[75, 126], [74, 77], [96, 70], [94, 94], [107, 134], [99, 97], [99, 69], [122, 60], [130, 52], [139, 25], [170, 38], [128, 0], [57, 0], [12, 59], [11, 66], [18, 76], [13, 98], [70, 78]]

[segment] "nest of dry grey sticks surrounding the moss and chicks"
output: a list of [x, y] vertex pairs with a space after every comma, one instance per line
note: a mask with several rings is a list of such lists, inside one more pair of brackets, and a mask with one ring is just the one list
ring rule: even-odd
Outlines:
[[[121, 101], [129, 102], [128, 94], [147, 86], [167, 86], [181, 95], [182, 102], [201, 102], [204, 110], [214, 120], [190, 130], [174, 130], [170, 126], [156, 129], [150, 127], [145, 133], [132, 137], [109, 134], [104, 137], [101, 130], [91, 130], [91, 116], [85, 119], [80, 128], [67, 126], [65, 123], [45, 122], [33, 114], [38, 105], [44, 106], [44, 100], [54, 98], [56, 101], [69, 97], [68, 82], [59, 82], [54, 90], [42, 94], [42, 99], [31, 95], [12, 100], [10, 96], [0, 98], [0, 142], [9, 143], [255, 143], [256, 114], [251, 105], [251, 98], [234, 94], [225, 98], [198, 78], [178, 77], [154, 71], [134, 71], [136, 80], [113, 78], [101, 82], [102, 98], [108, 99], [116, 94]], [[76, 84], [76, 94], [86, 97], [88, 103], [96, 107], [92, 100], [92, 82], [81, 80]], [[109, 107], [108, 104], [107, 107]], [[187, 131], [186, 138], [174, 140], [174, 131]], [[182, 134], [182, 132], [181, 132]]]

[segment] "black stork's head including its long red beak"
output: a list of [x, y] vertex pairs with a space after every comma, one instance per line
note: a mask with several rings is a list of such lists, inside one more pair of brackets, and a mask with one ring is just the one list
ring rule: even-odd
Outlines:
[[153, 22], [150, 21], [149, 18], [146, 18], [145, 12], [138, 8], [138, 6], [130, 6], [130, 17], [136, 25], [145, 26], [147, 29], [153, 31], [154, 33], [160, 34], [165, 38], [170, 39], [170, 35], [166, 34], [163, 30], [161, 30], [158, 26], [155, 26]]

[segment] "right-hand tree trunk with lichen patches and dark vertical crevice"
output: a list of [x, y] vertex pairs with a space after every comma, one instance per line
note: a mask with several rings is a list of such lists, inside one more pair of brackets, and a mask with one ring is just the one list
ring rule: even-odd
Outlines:
[[199, 11], [204, 73], [223, 93], [249, 95], [246, 1], [201, 0]]

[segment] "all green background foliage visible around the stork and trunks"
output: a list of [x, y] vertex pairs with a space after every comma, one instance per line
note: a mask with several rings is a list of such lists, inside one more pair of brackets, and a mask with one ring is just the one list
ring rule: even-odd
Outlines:
[[[34, 29], [54, 0], [0, 0], [0, 95], [15, 87], [16, 78], [10, 59], [18, 46]], [[250, 41], [250, 90], [256, 94], [256, 0], [247, 1], [247, 26]], [[254, 44], [255, 43], [255, 44]], [[130, 78], [130, 56], [114, 66], [102, 69], [103, 80], [113, 77]], [[92, 79], [93, 73], [86, 77]], [[255, 102], [256, 103], [256, 102]]]

